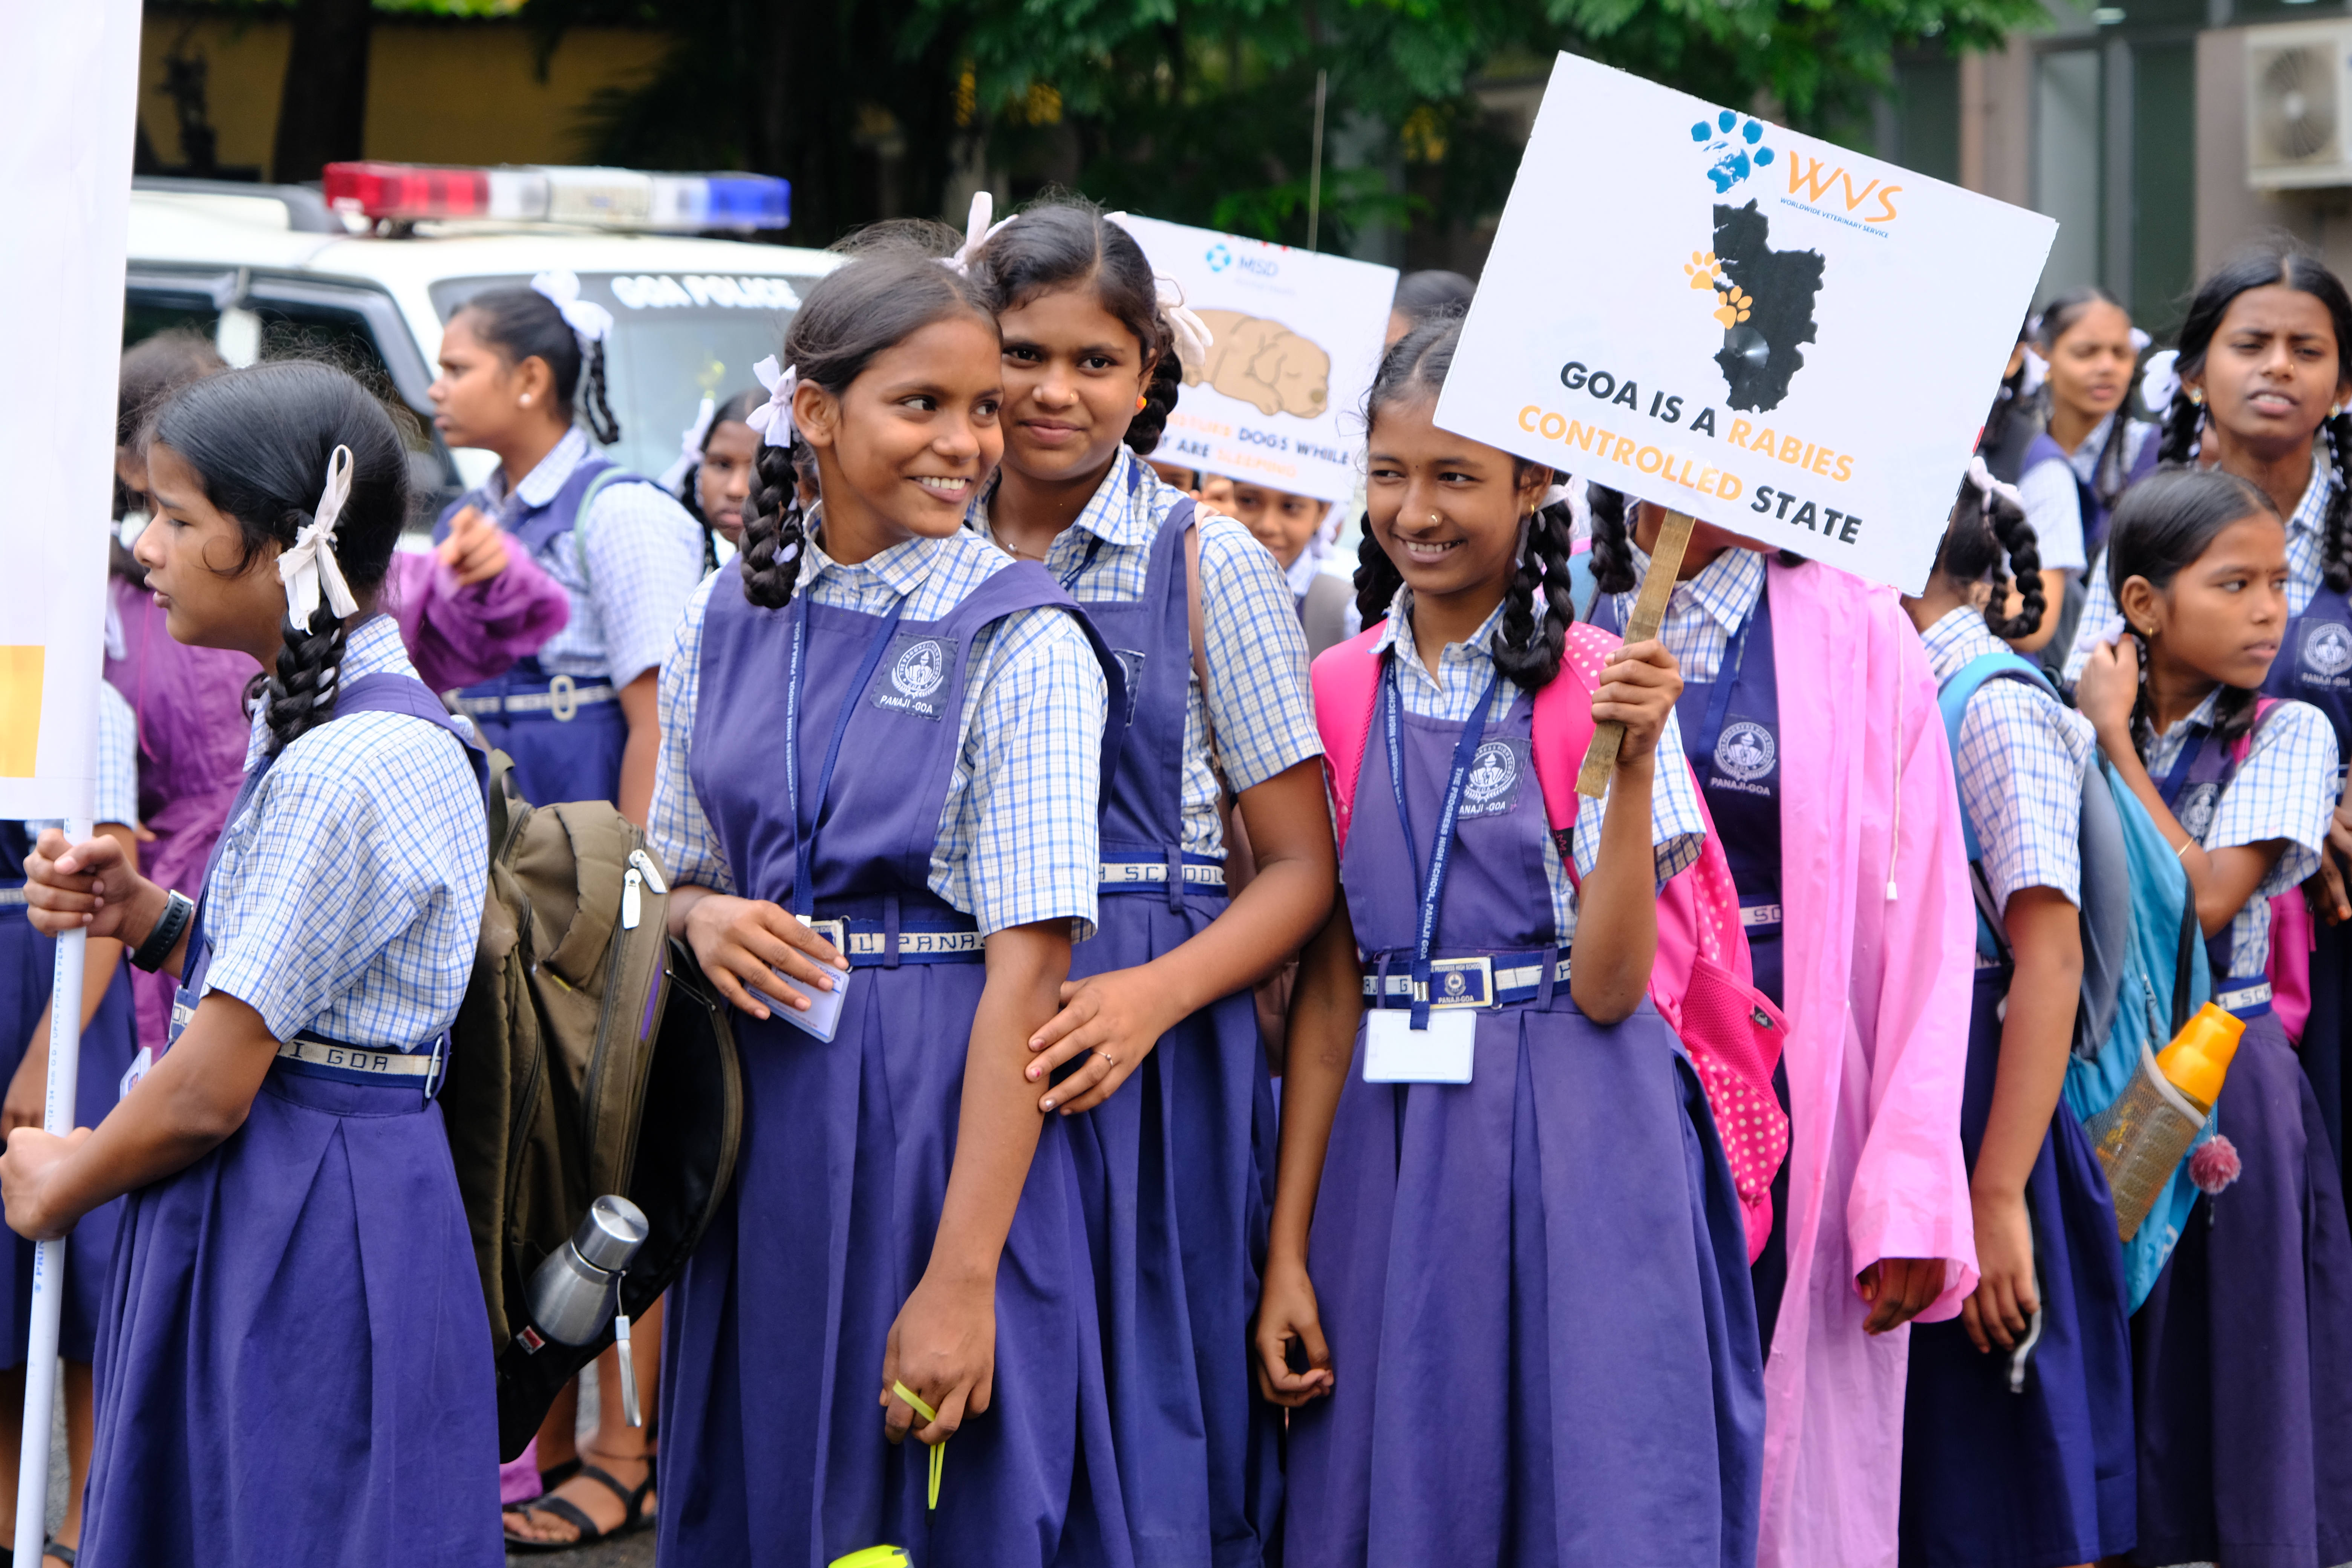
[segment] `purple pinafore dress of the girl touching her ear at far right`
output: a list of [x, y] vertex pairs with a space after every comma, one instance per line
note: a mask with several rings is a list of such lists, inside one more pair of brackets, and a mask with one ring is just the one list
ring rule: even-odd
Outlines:
[[[2230, 745], [2209, 731], [2159, 788], [2187, 825], [2234, 773]], [[2232, 1009], [2246, 1032], [2213, 1103], [2241, 1175], [2197, 1199], [2131, 1319], [2136, 1559], [2328, 1568], [2352, 1559], [2352, 1232], [2319, 1103], [2265, 976], [2230, 973], [2227, 926], [2206, 954], [2216, 1001], [2249, 997]]]

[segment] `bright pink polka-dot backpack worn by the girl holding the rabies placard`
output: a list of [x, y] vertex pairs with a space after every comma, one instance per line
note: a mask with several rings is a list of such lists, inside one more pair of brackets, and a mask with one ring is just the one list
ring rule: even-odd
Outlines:
[[[1381, 661], [1371, 651], [1378, 637], [1381, 628], [1374, 625], [1315, 661], [1315, 726], [1322, 731], [1324, 776], [1338, 804], [1341, 849], [1348, 846], [1355, 783], [1381, 686]], [[1566, 851], [1576, 827], [1576, 769], [1592, 741], [1592, 693], [1599, 689], [1602, 665], [1618, 644], [1613, 632], [1571, 625], [1559, 672], [1573, 679], [1555, 679], [1536, 693], [1536, 783], [1543, 785], [1543, 818], [1562, 844], [1559, 860], [1569, 882], [1581, 882], [1576, 856]], [[1705, 795], [1698, 797], [1698, 813], [1708, 823], [1698, 860], [1658, 891], [1658, 961], [1649, 976], [1649, 999], [1682, 1037], [1698, 1070], [1748, 1220], [1748, 1260], [1755, 1262], [1771, 1234], [1771, 1178], [1788, 1159], [1788, 1112], [1771, 1088], [1788, 1020], [1755, 987], [1740, 896]]]

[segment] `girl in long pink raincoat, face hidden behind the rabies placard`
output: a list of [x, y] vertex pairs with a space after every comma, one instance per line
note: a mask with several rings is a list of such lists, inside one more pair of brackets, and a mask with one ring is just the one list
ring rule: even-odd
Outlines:
[[[1625, 623], [1665, 515], [1590, 487], [1592, 621]], [[1755, 1267], [1764, 1568], [1896, 1556], [1903, 1340], [1976, 1288], [1959, 1157], [1973, 900], [1919, 632], [1893, 595], [1698, 524], [1661, 639], [1738, 884], [1757, 990], [1788, 1016], [1790, 1154]], [[1837, 670], [1839, 679], [1823, 679]], [[1785, 1309], [1783, 1309], [1785, 1298]], [[1835, 1497], [1835, 1505], [1825, 1505]]]

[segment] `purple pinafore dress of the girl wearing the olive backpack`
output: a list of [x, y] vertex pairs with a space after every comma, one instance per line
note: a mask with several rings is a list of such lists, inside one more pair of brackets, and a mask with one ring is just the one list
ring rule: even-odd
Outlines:
[[[353, 679], [336, 717], [353, 712], [459, 736], [405, 675]], [[273, 762], [247, 776], [228, 820]], [[174, 1037], [212, 964], [202, 900], [186, 964]], [[353, 1051], [372, 1056], [386, 1053]], [[122, 1199], [82, 1563], [506, 1559], [489, 1314], [437, 1088], [437, 1072], [280, 1056], [238, 1133]]]

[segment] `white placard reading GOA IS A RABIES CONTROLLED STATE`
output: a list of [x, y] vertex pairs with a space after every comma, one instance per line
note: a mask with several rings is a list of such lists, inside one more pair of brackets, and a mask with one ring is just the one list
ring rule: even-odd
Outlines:
[[1562, 54], [1437, 423], [1917, 592], [2056, 235]]

